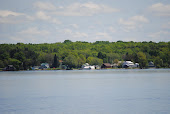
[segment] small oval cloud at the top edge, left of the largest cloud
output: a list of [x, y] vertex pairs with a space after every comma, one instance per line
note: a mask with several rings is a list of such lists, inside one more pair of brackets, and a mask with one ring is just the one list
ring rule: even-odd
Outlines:
[[56, 10], [56, 7], [49, 2], [36, 2], [34, 6], [40, 10]]

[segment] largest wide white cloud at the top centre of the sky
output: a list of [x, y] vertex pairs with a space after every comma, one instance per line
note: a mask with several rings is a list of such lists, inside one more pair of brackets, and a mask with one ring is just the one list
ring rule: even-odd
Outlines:
[[60, 7], [55, 12], [55, 15], [62, 16], [92, 16], [99, 13], [113, 13], [119, 11], [103, 4], [95, 4], [93, 2], [87, 3], [73, 3], [66, 7]]

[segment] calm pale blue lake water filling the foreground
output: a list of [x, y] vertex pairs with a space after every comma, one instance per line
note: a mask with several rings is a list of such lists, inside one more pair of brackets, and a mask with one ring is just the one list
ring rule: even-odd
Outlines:
[[170, 69], [0, 72], [1, 114], [168, 114]]

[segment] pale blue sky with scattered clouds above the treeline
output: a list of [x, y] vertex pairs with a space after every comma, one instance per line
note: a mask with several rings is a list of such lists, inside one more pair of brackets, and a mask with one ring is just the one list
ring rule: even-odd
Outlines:
[[170, 0], [0, 0], [0, 44], [170, 41]]

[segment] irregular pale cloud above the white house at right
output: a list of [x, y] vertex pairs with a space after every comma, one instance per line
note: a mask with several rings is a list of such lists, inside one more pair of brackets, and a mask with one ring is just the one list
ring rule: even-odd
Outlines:
[[127, 20], [120, 18], [118, 22], [120, 25], [122, 25], [122, 29], [125, 32], [129, 32], [130, 30], [141, 28], [144, 23], [148, 23], [149, 21], [146, 17], [137, 15], [137, 16], [130, 17]]

